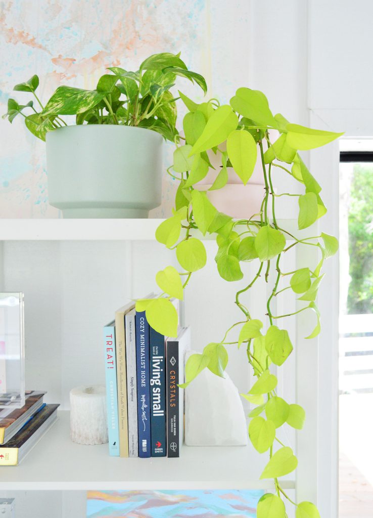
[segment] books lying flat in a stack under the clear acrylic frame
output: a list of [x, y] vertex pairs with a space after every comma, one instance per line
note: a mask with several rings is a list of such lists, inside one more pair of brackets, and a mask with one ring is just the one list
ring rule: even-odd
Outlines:
[[25, 405], [0, 410], [0, 466], [16, 466], [57, 419], [59, 405], [46, 405], [46, 393], [27, 391]]

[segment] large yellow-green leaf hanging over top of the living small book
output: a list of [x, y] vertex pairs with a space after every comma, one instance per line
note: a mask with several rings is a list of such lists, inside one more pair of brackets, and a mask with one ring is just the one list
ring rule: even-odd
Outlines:
[[167, 298], [155, 298], [146, 306], [146, 320], [158, 333], [177, 336], [177, 311]]

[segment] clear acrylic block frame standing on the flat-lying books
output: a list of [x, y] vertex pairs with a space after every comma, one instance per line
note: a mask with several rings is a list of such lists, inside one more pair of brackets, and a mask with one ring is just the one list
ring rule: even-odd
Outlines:
[[23, 293], [0, 293], [0, 409], [25, 404]]

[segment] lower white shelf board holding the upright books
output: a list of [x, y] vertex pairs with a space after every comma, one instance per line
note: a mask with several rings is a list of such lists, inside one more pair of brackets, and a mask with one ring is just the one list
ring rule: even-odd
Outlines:
[[[110, 457], [108, 445], [83, 446], [69, 438], [69, 412], [42, 437], [19, 466], [0, 468], [2, 490], [273, 490], [259, 480], [266, 455], [248, 447], [192, 448], [180, 458]], [[282, 487], [295, 487], [282, 480]]]

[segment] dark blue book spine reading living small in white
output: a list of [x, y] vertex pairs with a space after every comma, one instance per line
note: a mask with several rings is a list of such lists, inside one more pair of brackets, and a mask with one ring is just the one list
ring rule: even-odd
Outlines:
[[152, 457], [167, 455], [165, 337], [150, 328]]

